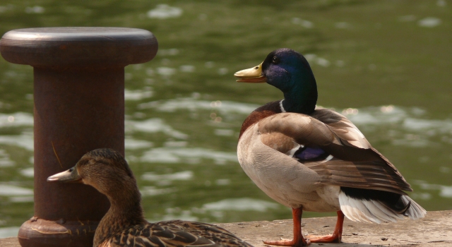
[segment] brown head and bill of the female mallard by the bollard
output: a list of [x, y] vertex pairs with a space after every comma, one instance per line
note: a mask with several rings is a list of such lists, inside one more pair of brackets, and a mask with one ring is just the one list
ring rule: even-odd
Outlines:
[[126, 185], [136, 187], [136, 180], [126, 159], [119, 152], [108, 148], [86, 153], [74, 167], [49, 176], [47, 181], [85, 183], [105, 195], [117, 193], [119, 188]]

